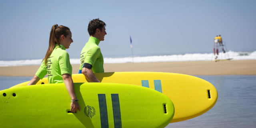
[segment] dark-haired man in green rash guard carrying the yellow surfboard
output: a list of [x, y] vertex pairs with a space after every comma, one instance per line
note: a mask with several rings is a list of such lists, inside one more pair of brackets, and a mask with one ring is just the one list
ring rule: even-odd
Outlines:
[[79, 73], [84, 74], [89, 82], [100, 82], [94, 73], [104, 72], [104, 60], [98, 45], [107, 34], [105, 26], [106, 24], [99, 19], [91, 20], [88, 25], [90, 38], [80, 54], [81, 64]]

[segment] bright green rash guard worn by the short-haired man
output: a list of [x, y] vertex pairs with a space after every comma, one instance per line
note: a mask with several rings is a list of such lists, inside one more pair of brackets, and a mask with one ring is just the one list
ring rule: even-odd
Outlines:
[[100, 47], [98, 46], [99, 43], [100, 40], [98, 38], [89, 38], [80, 54], [80, 71], [82, 70], [84, 63], [88, 63], [92, 65], [93, 73], [104, 72], [104, 60], [102, 53], [100, 52]]

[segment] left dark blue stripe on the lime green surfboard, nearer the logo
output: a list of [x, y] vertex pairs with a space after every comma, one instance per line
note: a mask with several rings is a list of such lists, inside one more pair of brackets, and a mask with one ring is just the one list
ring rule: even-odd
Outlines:
[[100, 106], [100, 124], [101, 128], [108, 128], [108, 110], [105, 94], [98, 94]]

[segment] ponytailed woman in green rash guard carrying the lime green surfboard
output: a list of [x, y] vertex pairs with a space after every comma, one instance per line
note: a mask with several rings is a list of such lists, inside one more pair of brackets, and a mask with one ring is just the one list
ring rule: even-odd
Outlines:
[[70, 111], [77, 112], [77, 109], [80, 111], [80, 106], [77, 102], [78, 99], [76, 99], [71, 77], [72, 66], [70, 64], [69, 54], [66, 52], [66, 49], [69, 48], [72, 42], [72, 33], [68, 27], [58, 26], [58, 24], [52, 26], [46, 55], [36, 75], [30, 80], [28, 85], [36, 84], [46, 74], [48, 75], [48, 82], [50, 84], [64, 83], [71, 98]]

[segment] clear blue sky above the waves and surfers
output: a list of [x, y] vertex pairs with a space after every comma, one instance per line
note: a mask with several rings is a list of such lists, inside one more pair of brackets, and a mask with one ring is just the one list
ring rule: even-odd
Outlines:
[[221, 34], [228, 50], [256, 50], [256, 0], [1, 0], [0, 60], [42, 59], [52, 25], [68, 26], [67, 50], [79, 58], [90, 19], [107, 35], [104, 57], [212, 52]]

